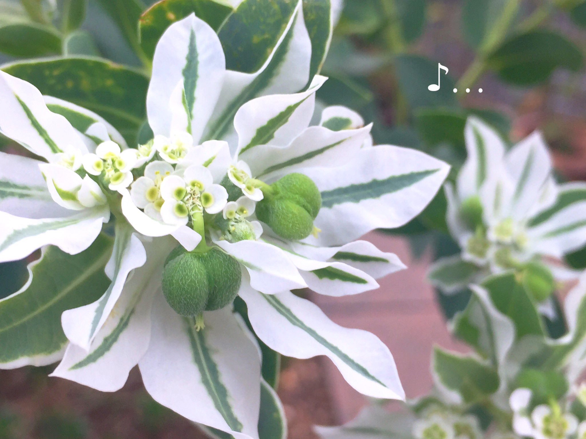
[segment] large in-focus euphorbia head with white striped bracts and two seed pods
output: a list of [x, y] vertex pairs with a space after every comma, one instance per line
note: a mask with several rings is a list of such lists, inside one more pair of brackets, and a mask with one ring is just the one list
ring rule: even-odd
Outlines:
[[[243, 2], [223, 26], [254, 11]], [[29, 282], [0, 301], [2, 367], [60, 359], [54, 376], [114, 391], [138, 364], [155, 400], [237, 438], [259, 434], [254, 335], [284, 355], [329, 356], [365, 395], [403, 399], [379, 339], [291, 290], [356, 294], [402, 269], [355, 239], [417, 215], [449, 167], [372, 146], [344, 108], [309, 126], [329, 37], [310, 37], [304, 18], [296, 2], [255, 73], [227, 69], [237, 48], [195, 15], [169, 26], [147, 95], [152, 139], [137, 148], [97, 114], [0, 73], [0, 131], [40, 157], [0, 157], [0, 261], [42, 249]]]

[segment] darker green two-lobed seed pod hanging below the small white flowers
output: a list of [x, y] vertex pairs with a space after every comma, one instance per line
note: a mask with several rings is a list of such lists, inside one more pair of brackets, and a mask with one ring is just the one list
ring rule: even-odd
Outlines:
[[173, 249], [163, 269], [167, 303], [179, 315], [192, 317], [231, 303], [241, 282], [240, 264], [219, 248], [206, 252]]

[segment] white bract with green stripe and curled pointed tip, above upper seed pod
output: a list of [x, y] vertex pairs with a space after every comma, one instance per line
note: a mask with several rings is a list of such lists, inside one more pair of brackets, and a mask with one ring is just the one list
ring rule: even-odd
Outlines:
[[325, 77], [317, 76], [304, 92], [263, 96], [240, 107], [234, 116], [238, 153], [257, 145], [288, 145], [309, 126], [314, 114], [315, 92], [325, 81]]

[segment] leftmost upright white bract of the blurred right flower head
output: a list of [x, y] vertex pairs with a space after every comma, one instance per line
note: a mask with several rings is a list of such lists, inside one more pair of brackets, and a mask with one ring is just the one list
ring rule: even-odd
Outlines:
[[503, 172], [505, 144], [499, 133], [473, 116], [464, 131], [468, 158], [458, 174], [456, 187], [461, 200], [478, 194], [482, 184]]

